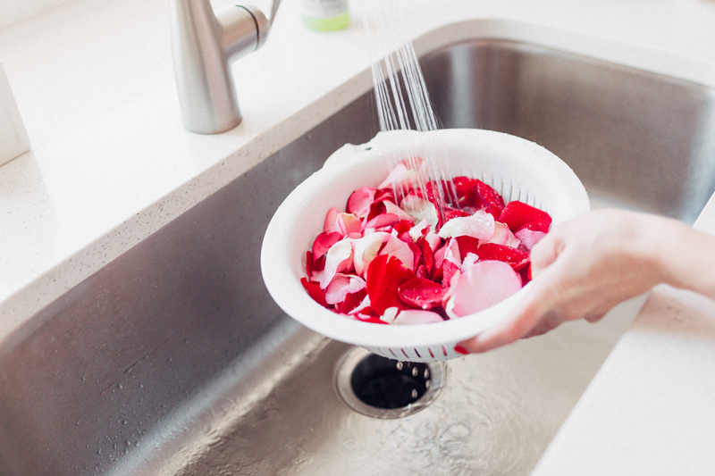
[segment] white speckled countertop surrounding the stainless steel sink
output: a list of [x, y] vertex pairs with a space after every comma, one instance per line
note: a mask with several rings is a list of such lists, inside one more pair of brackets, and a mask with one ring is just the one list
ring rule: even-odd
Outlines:
[[[561, 49], [578, 46], [564, 38], [595, 38], [578, 52], [715, 88], [712, 0], [394, 1], [415, 37], [485, 19], [484, 35]], [[283, 0], [265, 46], [234, 65], [244, 121], [206, 137], [181, 127], [165, 0], [80, 0], [0, 30], [0, 63], [32, 145], [0, 167], [0, 341], [357, 96], [349, 79], [370, 58], [352, 6], [352, 26], [324, 34], [304, 29], [298, 3]], [[715, 233], [713, 209], [698, 226]], [[715, 473], [715, 372], [703, 373], [715, 362], [713, 314], [702, 297], [657, 289], [537, 472]], [[683, 440], [685, 430], [694, 436]], [[702, 457], [669, 459], [692, 452]]]

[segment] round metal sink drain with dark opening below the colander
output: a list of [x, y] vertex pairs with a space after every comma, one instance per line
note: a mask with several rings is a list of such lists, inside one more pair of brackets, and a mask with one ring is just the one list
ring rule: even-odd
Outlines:
[[410, 363], [355, 347], [335, 369], [335, 388], [354, 410], [375, 418], [400, 418], [433, 402], [442, 388], [444, 363]]

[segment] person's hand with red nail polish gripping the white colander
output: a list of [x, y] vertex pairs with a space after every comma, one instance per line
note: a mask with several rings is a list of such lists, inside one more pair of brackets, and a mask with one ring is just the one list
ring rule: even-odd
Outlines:
[[514, 313], [459, 346], [469, 353], [485, 352], [562, 322], [599, 321], [614, 305], [667, 280], [660, 263], [662, 241], [683, 227], [667, 218], [619, 210], [560, 223], [534, 246], [533, 280]]

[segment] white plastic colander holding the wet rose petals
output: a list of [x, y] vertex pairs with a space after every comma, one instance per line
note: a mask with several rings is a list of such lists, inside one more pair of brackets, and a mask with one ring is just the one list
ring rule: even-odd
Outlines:
[[366, 144], [342, 146], [293, 190], [273, 215], [261, 250], [265, 286], [275, 302], [307, 328], [329, 338], [392, 359], [433, 362], [458, 357], [455, 345], [508, 316], [528, 285], [498, 305], [458, 319], [383, 325], [332, 313], [308, 296], [300, 283], [306, 276], [306, 252], [323, 231], [328, 209], [344, 210], [354, 190], [376, 187], [395, 158], [399, 161], [408, 154], [446, 163], [454, 176], [482, 180], [506, 203], [520, 200], [541, 208], [551, 214], [554, 224], [590, 207], [583, 184], [559, 157], [524, 138], [483, 129], [381, 132]]

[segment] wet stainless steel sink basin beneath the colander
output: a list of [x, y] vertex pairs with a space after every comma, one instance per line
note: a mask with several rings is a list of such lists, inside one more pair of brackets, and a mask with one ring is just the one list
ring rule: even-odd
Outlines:
[[[715, 185], [713, 89], [477, 28], [425, 46], [444, 31], [419, 43], [443, 128], [551, 149], [594, 207], [687, 222], [702, 209]], [[273, 211], [332, 151], [377, 131], [369, 75], [356, 80], [360, 93], [337, 113], [4, 340], [1, 474], [534, 468], [643, 298], [596, 325], [427, 369], [439, 387], [420, 397], [429, 405], [368, 415], [336, 390], [353, 349], [293, 322], [265, 290], [258, 256]]]

